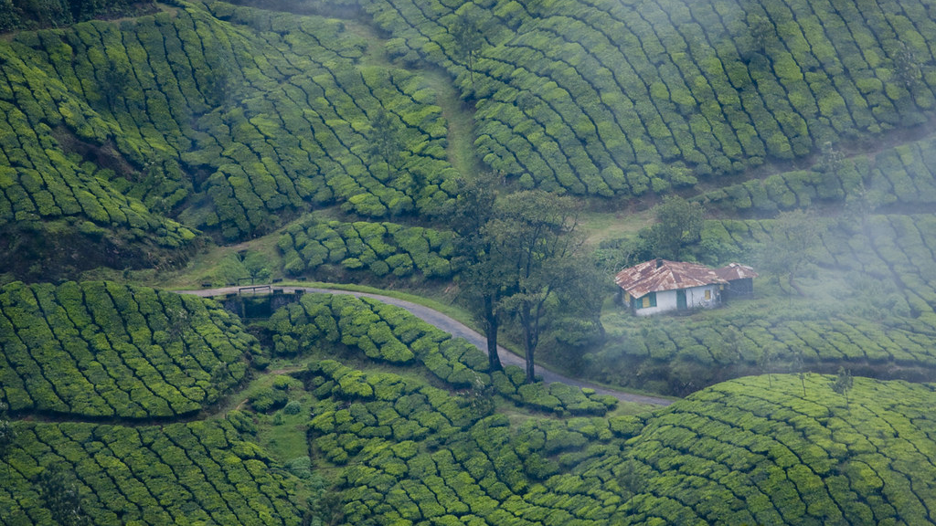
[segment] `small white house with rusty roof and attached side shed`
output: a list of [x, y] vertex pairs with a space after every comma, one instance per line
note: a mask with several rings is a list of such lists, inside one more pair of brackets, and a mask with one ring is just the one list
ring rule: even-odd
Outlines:
[[[728, 270], [731, 271], [726, 273]], [[718, 307], [722, 304], [725, 287], [735, 283], [731, 278], [738, 279], [740, 275], [743, 275], [740, 283], [750, 286], [751, 278], [757, 274], [751, 267], [737, 263], [713, 270], [698, 263], [651, 259], [621, 270], [614, 283], [621, 287], [622, 303], [642, 316]]]

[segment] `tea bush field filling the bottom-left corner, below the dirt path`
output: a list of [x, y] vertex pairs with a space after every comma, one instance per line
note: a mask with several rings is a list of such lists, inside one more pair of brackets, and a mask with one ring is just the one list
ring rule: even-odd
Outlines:
[[[0, 519], [58, 524], [44, 474], [73, 483], [95, 525], [301, 523], [297, 479], [224, 420], [139, 428], [78, 422], [13, 424], [0, 466]], [[48, 475], [46, 475], [48, 476]]]

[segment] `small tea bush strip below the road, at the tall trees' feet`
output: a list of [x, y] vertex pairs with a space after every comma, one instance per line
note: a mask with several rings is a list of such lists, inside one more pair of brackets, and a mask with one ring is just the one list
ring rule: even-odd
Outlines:
[[618, 405], [612, 396], [596, 395], [578, 387], [554, 382], [545, 384], [536, 382], [525, 384], [526, 374], [516, 365], [508, 365], [504, 371], [495, 371], [490, 375], [493, 387], [498, 394], [517, 402], [543, 411], [572, 415], [604, 415]]

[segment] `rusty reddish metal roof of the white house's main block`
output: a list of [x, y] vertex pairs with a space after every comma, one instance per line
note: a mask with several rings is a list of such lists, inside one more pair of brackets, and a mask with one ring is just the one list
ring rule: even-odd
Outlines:
[[719, 277], [715, 270], [705, 265], [651, 259], [630, 269], [621, 270], [615, 276], [614, 283], [634, 298], [642, 298], [651, 292], [727, 282]]

